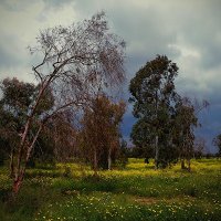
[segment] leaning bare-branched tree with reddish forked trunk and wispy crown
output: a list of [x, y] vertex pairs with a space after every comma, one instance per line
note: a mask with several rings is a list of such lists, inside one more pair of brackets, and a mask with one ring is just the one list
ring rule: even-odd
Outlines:
[[[125, 42], [109, 32], [104, 12], [67, 28], [55, 27], [40, 33], [36, 46], [30, 48], [31, 53], [43, 57], [32, 67], [39, 91], [21, 134], [13, 173], [14, 193], [21, 187], [27, 162], [45, 122], [63, 110], [87, 104], [96, 82], [108, 86], [124, 78], [124, 48]], [[36, 117], [48, 88], [53, 92], [55, 105]], [[29, 139], [30, 127], [36, 118], [39, 129]]]

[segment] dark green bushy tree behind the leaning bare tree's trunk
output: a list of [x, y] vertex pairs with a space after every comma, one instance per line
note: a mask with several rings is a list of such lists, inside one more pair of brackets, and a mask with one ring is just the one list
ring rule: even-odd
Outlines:
[[[2, 98], [0, 101], [0, 137], [1, 137], [1, 149], [4, 148], [4, 155], [10, 156], [11, 173], [14, 170], [14, 157], [18, 154], [20, 135], [23, 131], [23, 125], [27, 120], [29, 110], [36, 97], [39, 86], [34, 84], [24, 83], [14, 78], [4, 78], [0, 85], [2, 92]], [[38, 106], [36, 113], [33, 117], [33, 122], [36, 123], [41, 114], [53, 106], [53, 95], [48, 88], [44, 96], [42, 97], [40, 105]], [[36, 127], [33, 124], [27, 141], [32, 138]], [[40, 143], [40, 140], [39, 140]], [[43, 143], [42, 143], [43, 144]], [[45, 158], [48, 146], [41, 144], [42, 155]], [[33, 158], [32, 158], [33, 159]]]

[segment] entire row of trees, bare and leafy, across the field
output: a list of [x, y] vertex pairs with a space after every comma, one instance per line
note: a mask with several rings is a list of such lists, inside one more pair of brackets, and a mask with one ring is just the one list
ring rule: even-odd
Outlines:
[[[125, 80], [125, 41], [112, 33], [105, 13], [72, 25], [41, 31], [31, 54], [36, 84], [1, 82], [0, 151], [7, 156], [13, 192], [35, 161], [77, 159], [110, 169], [130, 150], [122, 138], [126, 102], [115, 91]], [[193, 104], [175, 87], [178, 66], [166, 55], [147, 62], [131, 78], [129, 102], [137, 118], [131, 140], [156, 169], [185, 160], [190, 170], [198, 113], [209, 103]], [[218, 144], [218, 143], [215, 143]]]

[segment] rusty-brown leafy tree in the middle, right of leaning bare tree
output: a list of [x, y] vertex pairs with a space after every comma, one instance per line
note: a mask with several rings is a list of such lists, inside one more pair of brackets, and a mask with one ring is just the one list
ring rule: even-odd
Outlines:
[[82, 119], [82, 145], [85, 157], [92, 162], [95, 175], [98, 167], [110, 169], [112, 159], [119, 150], [119, 123], [125, 103], [112, 103], [105, 95], [94, 99]]

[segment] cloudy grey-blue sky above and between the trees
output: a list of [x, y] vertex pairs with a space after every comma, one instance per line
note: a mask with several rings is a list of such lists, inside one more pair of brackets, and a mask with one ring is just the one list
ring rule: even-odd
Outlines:
[[[182, 96], [207, 99], [196, 131], [215, 151], [221, 133], [221, 1], [220, 0], [0, 0], [0, 80], [33, 82], [35, 59], [28, 51], [40, 30], [70, 25], [104, 10], [109, 29], [126, 41], [125, 98], [136, 72], [157, 54], [179, 67], [176, 88]], [[129, 141], [135, 119], [128, 105], [123, 135]]]

